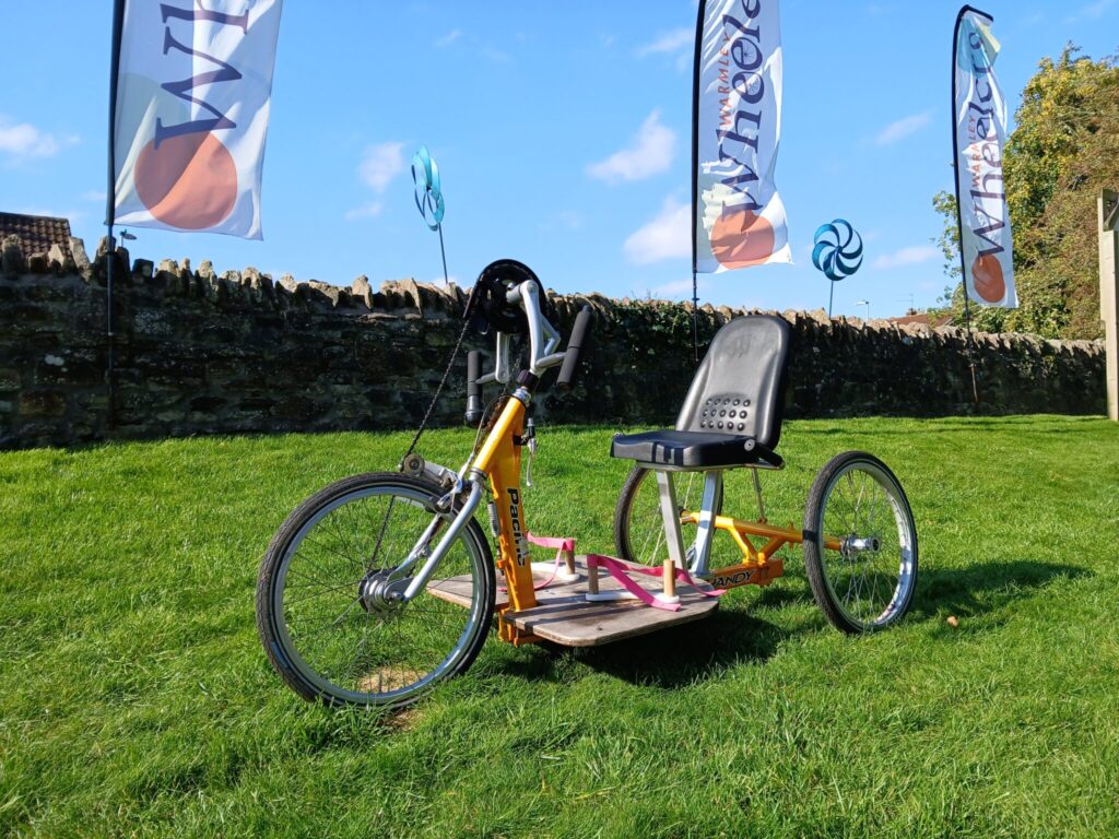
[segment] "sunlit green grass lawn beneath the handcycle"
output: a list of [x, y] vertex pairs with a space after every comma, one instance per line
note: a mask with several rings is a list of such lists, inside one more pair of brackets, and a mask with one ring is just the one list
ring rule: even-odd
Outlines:
[[[612, 550], [610, 435], [542, 428], [534, 531]], [[909, 493], [921, 581], [888, 632], [830, 629], [787, 549], [698, 624], [491, 638], [387, 719], [305, 705], [257, 642], [257, 563], [302, 498], [408, 439], [0, 453], [0, 836], [1119, 836], [1119, 426], [788, 423], [772, 521], [847, 449]], [[421, 450], [457, 466], [472, 439]], [[726, 508], [751, 513], [745, 481]]]

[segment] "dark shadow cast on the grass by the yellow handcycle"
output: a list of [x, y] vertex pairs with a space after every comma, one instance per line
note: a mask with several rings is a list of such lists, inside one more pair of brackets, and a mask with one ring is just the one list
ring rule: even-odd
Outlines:
[[[976, 616], [1029, 597], [1060, 579], [1089, 576], [1092, 572], [1085, 568], [1029, 559], [984, 563], [968, 568], [922, 569], [916, 600], [908, 620], [920, 622], [942, 612], [961, 618]], [[794, 603], [812, 603], [807, 586], [779, 584], [767, 588], [756, 601], [756, 605], [770, 607]], [[573, 654], [582, 663], [615, 678], [674, 689], [717, 678], [721, 672], [743, 662], [762, 663], [775, 654], [787, 639], [825, 625], [821, 613], [818, 621], [787, 629], [754, 618], [742, 609], [721, 609], [696, 623], [605, 647], [571, 651], [548, 644], [556, 656], [508, 661], [505, 669], [518, 678], [553, 680], [558, 678], [558, 660]]]

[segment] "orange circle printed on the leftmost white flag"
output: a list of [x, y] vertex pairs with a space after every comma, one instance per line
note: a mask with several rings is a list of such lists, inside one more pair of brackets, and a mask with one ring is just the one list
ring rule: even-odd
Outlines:
[[137, 194], [166, 225], [186, 230], [214, 227], [237, 201], [237, 167], [213, 134], [196, 132], [150, 141], [135, 168]]

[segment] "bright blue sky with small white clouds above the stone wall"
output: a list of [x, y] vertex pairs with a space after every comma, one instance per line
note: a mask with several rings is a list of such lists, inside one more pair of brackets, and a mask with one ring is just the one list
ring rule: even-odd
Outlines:
[[[944, 286], [931, 198], [951, 188], [949, 72], [959, 4], [786, 0], [778, 187], [797, 264], [700, 277], [704, 300], [827, 304], [809, 260], [837, 216], [866, 239], [837, 313], [902, 313]], [[1012, 110], [1066, 41], [1119, 48], [1119, 0], [979, 3]], [[0, 209], [103, 235], [109, 0], [3, 2]], [[137, 229], [133, 255], [254, 265], [347, 285], [442, 277], [407, 161], [443, 170], [450, 273], [511, 256], [562, 292], [690, 296], [693, 0], [288, 0], [264, 164], [263, 242]], [[13, 83], [18, 79], [18, 83]], [[683, 226], [681, 226], [683, 221]]]

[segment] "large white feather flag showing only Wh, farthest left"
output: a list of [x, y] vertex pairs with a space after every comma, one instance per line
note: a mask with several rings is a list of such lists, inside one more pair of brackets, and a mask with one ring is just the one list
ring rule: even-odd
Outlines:
[[282, 0], [117, 0], [109, 224], [261, 238]]

